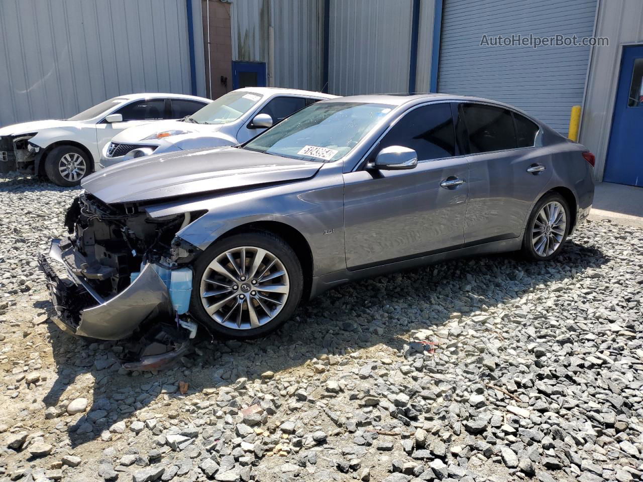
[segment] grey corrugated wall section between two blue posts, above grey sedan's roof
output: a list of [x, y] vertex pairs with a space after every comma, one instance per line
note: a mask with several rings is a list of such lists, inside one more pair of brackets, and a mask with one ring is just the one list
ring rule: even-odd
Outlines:
[[331, 0], [329, 93], [408, 91], [412, 0]]

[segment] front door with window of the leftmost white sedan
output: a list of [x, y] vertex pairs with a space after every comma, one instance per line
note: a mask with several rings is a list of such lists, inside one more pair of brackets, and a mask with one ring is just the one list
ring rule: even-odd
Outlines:
[[121, 114], [122, 122], [105, 122], [101, 121], [96, 124], [96, 143], [98, 152], [102, 152], [103, 147], [122, 130], [141, 125], [147, 122], [173, 119], [170, 100], [165, 98], [136, 100], [123, 105], [112, 114]]

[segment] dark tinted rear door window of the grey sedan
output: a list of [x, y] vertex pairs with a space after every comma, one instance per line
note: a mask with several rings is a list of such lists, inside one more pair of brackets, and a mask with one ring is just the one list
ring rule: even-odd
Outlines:
[[468, 103], [462, 105], [462, 111], [472, 154], [516, 148], [514, 122], [507, 109]]

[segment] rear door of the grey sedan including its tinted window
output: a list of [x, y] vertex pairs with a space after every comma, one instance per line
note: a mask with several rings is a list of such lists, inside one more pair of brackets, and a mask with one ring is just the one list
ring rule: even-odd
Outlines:
[[552, 175], [552, 156], [536, 146], [538, 125], [502, 107], [460, 103], [456, 129], [469, 153], [466, 244], [520, 236]]

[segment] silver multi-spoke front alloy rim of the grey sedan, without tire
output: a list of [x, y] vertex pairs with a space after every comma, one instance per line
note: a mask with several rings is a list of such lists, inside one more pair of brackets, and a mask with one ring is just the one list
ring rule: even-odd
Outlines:
[[235, 330], [266, 325], [290, 292], [288, 273], [275, 254], [240, 246], [219, 254], [201, 277], [201, 303], [217, 323]]

